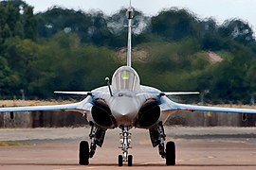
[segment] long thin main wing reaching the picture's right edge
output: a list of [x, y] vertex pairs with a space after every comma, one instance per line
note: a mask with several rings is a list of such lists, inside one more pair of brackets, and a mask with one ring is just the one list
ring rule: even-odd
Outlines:
[[[168, 99], [169, 100], [169, 99]], [[186, 111], [214, 111], [214, 112], [234, 112], [234, 113], [252, 113], [255, 114], [256, 110], [250, 109], [238, 109], [238, 108], [223, 108], [223, 107], [207, 107], [207, 106], [196, 106], [196, 105], [186, 105], [179, 104], [173, 101], [168, 101], [164, 104], [163, 110], [186, 110]]]

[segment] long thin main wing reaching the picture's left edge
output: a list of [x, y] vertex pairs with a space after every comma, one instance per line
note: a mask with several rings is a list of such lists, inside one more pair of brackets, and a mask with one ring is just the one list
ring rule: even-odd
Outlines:
[[52, 105], [52, 106], [9, 107], [9, 108], [0, 108], [0, 112], [35, 111], [35, 110], [78, 110], [79, 106], [80, 106], [80, 103]]

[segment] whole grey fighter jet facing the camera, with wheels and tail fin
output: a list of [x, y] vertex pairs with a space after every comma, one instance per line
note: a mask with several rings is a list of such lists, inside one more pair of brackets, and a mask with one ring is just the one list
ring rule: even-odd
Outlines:
[[256, 113], [256, 110], [219, 108], [179, 104], [168, 98], [168, 95], [195, 94], [197, 92], [162, 92], [154, 87], [140, 85], [139, 76], [132, 67], [132, 20], [134, 9], [127, 9], [128, 44], [127, 64], [119, 67], [110, 78], [106, 77], [106, 86], [90, 92], [55, 92], [65, 94], [87, 95], [81, 102], [33, 107], [1, 108], [1, 112], [35, 111], [35, 110], [77, 110], [88, 120], [91, 132], [90, 144], [82, 141], [79, 146], [79, 163], [88, 165], [93, 158], [97, 146], [102, 146], [105, 132], [108, 129], [119, 128], [120, 148], [118, 165], [127, 163], [133, 165], [133, 156], [128, 154], [131, 148], [131, 133], [133, 127], [149, 130], [151, 142], [158, 146], [159, 155], [166, 160], [166, 165], [175, 165], [175, 144], [170, 141], [165, 145], [166, 135], [164, 123], [168, 117], [179, 111], [219, 111], [234, 113]]

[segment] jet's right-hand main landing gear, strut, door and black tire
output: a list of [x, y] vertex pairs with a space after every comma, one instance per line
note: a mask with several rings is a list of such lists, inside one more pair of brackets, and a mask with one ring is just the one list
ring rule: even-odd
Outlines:
[[150, 138], [153, 146], [158, 145], [159, 155], [166, 160], [166, 165], [175, 165], [176, 156], [175, 156], [175, 144], [170, 141], [164, 147], [165, 133], [162, 122], [159, 122], [157, 126], [149, 129]]

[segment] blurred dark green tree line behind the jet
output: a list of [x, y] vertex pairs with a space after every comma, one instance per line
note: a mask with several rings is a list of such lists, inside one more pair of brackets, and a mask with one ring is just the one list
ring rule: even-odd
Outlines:
[[[34, 13], [24, 1], [0, 2], [0, 96], [56, 97], [54, 90], [90, 91], [125, 63], [126, 9], [111, 16], [52, 7]], [[136, 10], [133, 59], [141, 83], [162, 91], [208, 92], [216, 102], [249, 103], [256, 93], [254, 32], [238, 18], [218, 25], [186, 9], [153, 17]], [[210, 52], [222, 60], [212, 61]], [[137, 55], [134, 55], [137, 56]], [[154, 77], [154, 78], [152, 78]]]

